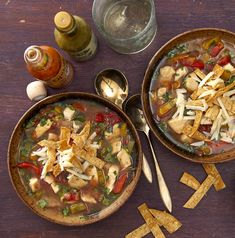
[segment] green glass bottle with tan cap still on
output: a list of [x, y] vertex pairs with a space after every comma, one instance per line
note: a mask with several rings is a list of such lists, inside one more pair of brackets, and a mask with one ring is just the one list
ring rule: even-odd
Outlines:
[[75, 61], [92, 58], [97, 50], [97, 40], [87, 22], [68, 12], [58, 12], [54, 18], [55, 41]]

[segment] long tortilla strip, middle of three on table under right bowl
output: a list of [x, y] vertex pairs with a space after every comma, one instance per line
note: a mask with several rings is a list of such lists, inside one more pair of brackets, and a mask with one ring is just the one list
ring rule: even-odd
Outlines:
[[189, 200], [184, 204], [184, 208], [193, 209], [197, 206], [197, 204], [201, 201], [201, 199], [205, 196], [207, 191], [215, 182], [215, 178], [211, 175], [208, 175], [207, 178], [200, 185], [198, 190], [189, 198]]

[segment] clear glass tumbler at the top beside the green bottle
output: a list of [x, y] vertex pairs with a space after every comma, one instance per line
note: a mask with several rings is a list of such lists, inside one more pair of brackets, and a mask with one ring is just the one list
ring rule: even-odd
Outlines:
[[94, 0], [92, 17], [109, 46], [123, 54], [144, 50], [157, 32], [154, 0]]

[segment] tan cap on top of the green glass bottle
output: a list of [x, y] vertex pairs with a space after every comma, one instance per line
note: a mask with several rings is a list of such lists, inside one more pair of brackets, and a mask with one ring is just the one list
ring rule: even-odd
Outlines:
[[68, 12], [61, 11], [55, 15], [54, 23], [58, 30], [69, 31], [73, 27], [73, 17]]

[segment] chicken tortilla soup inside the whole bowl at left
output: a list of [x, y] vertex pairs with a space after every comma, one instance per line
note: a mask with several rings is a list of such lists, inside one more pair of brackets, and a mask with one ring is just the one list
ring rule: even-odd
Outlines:
[[50, 104], [24, 127], [17, 167], [41, 209], [86, 218], [112, 204], [133, 179], [134, 138], [122, 118], [98, 103]]

